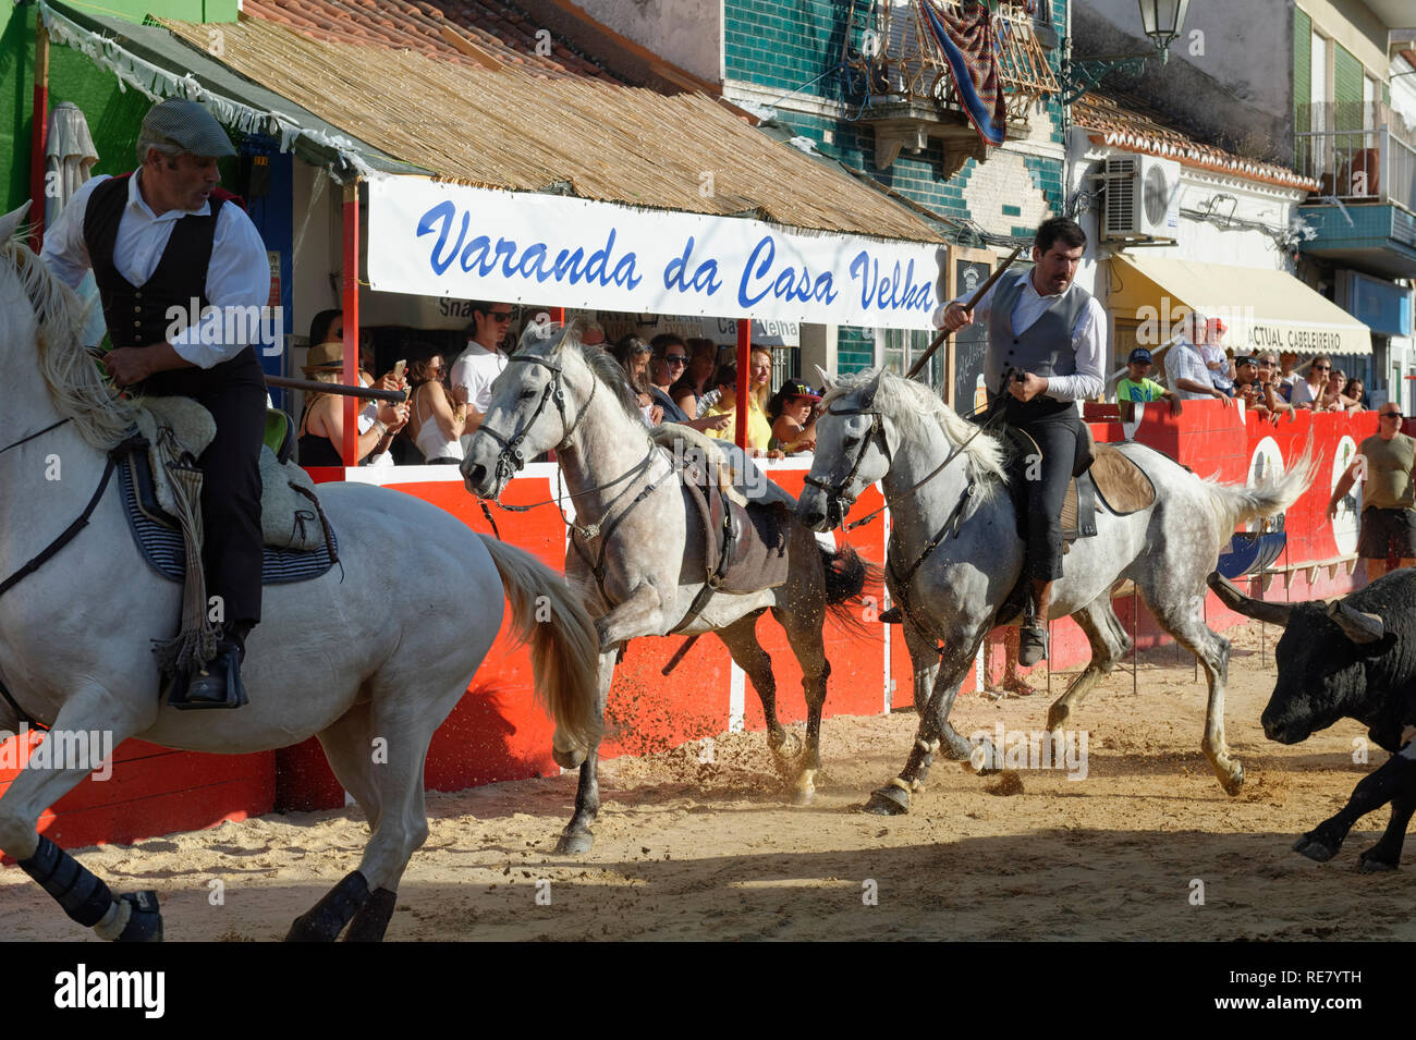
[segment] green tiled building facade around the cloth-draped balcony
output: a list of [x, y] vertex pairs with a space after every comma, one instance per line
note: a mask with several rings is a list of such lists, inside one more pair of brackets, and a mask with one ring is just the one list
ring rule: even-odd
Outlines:
[[[1066, 0], [1052, 0], [1052, 25], [1058, 38], [1066, 35]], [[855, 122], [860, 115], [860, 91], [843, 81], [841, 57], [847, 44], [855, 51], [864, 42], [869, 0], [725, 0], [725, 54], [729, 81], [745, 81], [780, 92], [777, 117], [792, 130], [811, 140], [827, 156], [862, 170], [881, 184], [933, 212], [959, 221], [976, 221], [990, 231], [998, 226], [1000, 212], [971, 214], [964, 188], [978, 168], [967, 160], [950, 178], [943, 178], [943, 147], [930, 141], [919, 154], [901, 153], [888, 170], [875, 167], [875, 134]], [[854, 18], [852, 18], [854, 14]], [[850, 38], [847, 40], [847, 25]], [[1048, 52], [1056, 68], [1058, 51]], [[844, 106], [844, 115], [821, 116], [792, 110], [792, 98], [807, 98]], [[1034, 126], [1044, 120], [1048, 137], [1065, 143], [1063, 110], [1056, 98], [1048, 100], [1045, 113], [1032, 116]], [[827, 140], [830, 134], [831, 140]], [[1022, 156], [1032, 185], [1044, 195], [1052, 212], [1065, 207], [1063, 163], [1061, 158]], [[1010, 200], [1011, 201], [1011, 200]], [[1011, 212], [1010, 212], [1011, 211]], [[1020, 216], [1018, 207], [1005, 215]], [[1031, 235], [1032, 228], [1008, 228], [1012, 235]], [[837, 338], [840, 371], [850, 372], [874, 362], [872, 330], [841, 328]]]

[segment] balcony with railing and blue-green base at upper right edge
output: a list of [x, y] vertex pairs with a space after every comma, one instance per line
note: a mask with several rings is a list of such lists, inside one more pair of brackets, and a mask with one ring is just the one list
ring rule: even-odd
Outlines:
[[1382, 103], [1306, 105], [1294, 168], [1318, 183], [1298, 248], [1388, 279], [1416, 277], [1416, 127]]

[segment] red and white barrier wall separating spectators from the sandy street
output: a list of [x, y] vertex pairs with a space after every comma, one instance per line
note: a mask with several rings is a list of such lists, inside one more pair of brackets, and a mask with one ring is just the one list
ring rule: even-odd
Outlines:
[[[1114, 406], [1089, 406], [1087, 422], [1099, 441], [1124, 439]], [[1180, 417], [1167, 406], [1146, 409], [1136, 440], [1170, 454], [1202, 477], [1218, 475], [1243, 483], [1255, 471], [1255, 457], [1291, 464], [1311, 437], [1320, 460], [1317, 477], [1284, 516], [1289, 548], [1264, 579], [1267, 599], [1311, 599], [1348, 591], [1348, 567], [1355, 549], [1355, 532], [1334, 532], [1327, 521], [1327, 501], [1337, 475], [1351, 461], [1355, 444], [1376, 430], [1375, 413], [1358, 416], [1298, 413], [1277, 426], [1256, 416], [1242, 416], [1238, 408], [1219, 402], [1189, 402]], [[1349, 439], [1349, 440], [1348, 440]], [[1276, 456], [1276, 457], [1274, 457]], [[799, 460], [770, 463], [772, 480], [799, 494], [806, 467]], [[450, 467], [396, 470], [350, 470], [350, 480], [379, 483], [402, 494], [423, 498], [460, 518], [467, 526], [491, 533], [481, 509]], [[1335, 473], [1334, 473], [1335, 470]], [[316, 478], [340, 478], [344, 471], [312, 471]], [[538, 464], [507, 488], [503, 501], [528, 504], [554, 497], [555, 470]], [[881, 505], [878, 490], [861, 497], [857, 515]], [[547, 563], [561, 567], [565, 556], [565, 528], [552, 507], [524, 514], [496, 514], [503, 538], [520, 545]], [[886, 516], [851, 532], [850, 543], [875, 563], [885, 560]], [[838, 536], [840, 538], [840, 536]], [[1259, 594], [1260, 582], [1249, 586]], [[881, 589], [868, 589], [875, 603]], [[1116, 601], [1117, 616], [1133, 630], [1133, 600]], [[1165, 641], [1150, 614], [1141, 608], [1134, 631], [1141, 647]], [[1240, 621], [1209, 597], [1211, 627], [1228, 628]], [[826, 715], [875, 715], [913, 700], [909, 655], [899, 630], [871, 625], [872, 634], [857, 638], [834, 621], [827, 621], [827, 652], [831, 681]], [[804, 719], [800, 671], [779, 625], [765, 620], [758, 637], [772, 655], [777, 679], [777, 710], [783, 722]], [[712, 736], [728, 729], [762, 729], [762, 706], [715, 638], [702, 638], [678, 664], [673, 675], [663, 666], [681, 645], [681, 638], [646, 638], [630, 644], [615, 676], [606, 713], [606, 757], [646, 754]], [[1087, 657], [1086, 640], [1068, 620], [1054, 625], [1052, 666], [1068, 669]], [[978, 668], [964, 683], [964, 692], [978, 689], [986, 668], [1003, 666], [1001, 631], [994, 632]], [[20, 744], [27, 734], [0, 743], [0, 794], [13, 781], [20, 761]], [[503, 634], [477, 674], [473, 686], [433, 737], [428, 754], [429, 790], [455, 791], [498, 780], [551, 775], [551, 724], [531, 695], [531, 665], [524, 649], [511, 649]], [[344, 802], [344, 792], [324, 764], [316, 740], [283, 751], [255, 756], [210, 756], [167, 751], [142, 741], [127, 741], [115, 754], [108, 780], [86, 780], [62, 798], [41, 819], [41, 831], [61, 845], [133, 842], [139, 838], [241, 819], [270, 809], [331, 808]]]

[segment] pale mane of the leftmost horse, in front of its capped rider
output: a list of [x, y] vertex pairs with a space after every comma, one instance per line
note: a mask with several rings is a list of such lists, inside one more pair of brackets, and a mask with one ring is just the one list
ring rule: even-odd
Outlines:
[[103, 382], [93, 357], [79, 342], [88, 306], [18, 236], [0, 246], [0, 256], [14, 269], [34, 307], [40, 374], [54, 408], [93, 447], [108, 451], [118, 446], [133, 429], [139, 406]]

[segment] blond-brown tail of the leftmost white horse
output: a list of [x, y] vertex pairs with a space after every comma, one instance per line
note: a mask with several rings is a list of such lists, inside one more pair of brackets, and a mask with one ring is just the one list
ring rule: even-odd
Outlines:
[[511, 604], [518, 644], [531, 644], [537, 700], [555, 722], [552, 757], [573, 768], [600, 743], [599, 637], [565, 580], [524, 549], [481, 536]]

